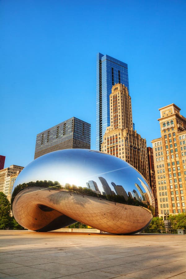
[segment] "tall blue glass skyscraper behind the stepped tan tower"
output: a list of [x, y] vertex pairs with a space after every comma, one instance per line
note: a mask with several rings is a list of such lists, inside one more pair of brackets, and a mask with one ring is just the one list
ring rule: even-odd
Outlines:
[[103, 135], [110, 126], [109, 95], [114, 84], [122, 83], [129, 91], [128, 66], [111, 56], [97, 54], [96, 149], [101, 150]]

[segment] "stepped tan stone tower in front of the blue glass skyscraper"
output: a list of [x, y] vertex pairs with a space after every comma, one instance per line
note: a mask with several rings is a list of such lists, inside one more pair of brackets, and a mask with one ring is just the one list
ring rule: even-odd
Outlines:
[[133, 129], [131, 96], [121, 83], [112, 87], [110, 126], [104, 134], [101, 151], [130, 163], [149, 182], [146, 140]]

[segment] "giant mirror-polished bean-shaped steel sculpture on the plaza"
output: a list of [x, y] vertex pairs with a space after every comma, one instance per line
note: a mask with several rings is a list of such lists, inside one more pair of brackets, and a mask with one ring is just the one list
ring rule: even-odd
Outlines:
[[148, 226], [154, 197], [125, 161], [99, 151], [66, 149], [31, 162], [15, 181], [12, 212], [34, 231], [77, 221], [105, 232], [130, 234]]

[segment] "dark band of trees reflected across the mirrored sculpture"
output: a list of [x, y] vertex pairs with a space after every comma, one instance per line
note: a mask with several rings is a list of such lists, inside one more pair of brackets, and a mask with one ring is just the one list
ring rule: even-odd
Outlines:
[[[77, 187], [76, 185], [70, 185], [69, 183], [66, 183], [64, 186], [61, 185], [58, 181], [51, 181], [51, 180], [37, 180], [36, 182], [28, 182], [28, 183], [23, 183], [19, 184], [15, 187], [14, 191], [12, 192], [12, 198], [11, 198], [11, 205], [14, 201], [14, 198], [17, 193], [19, 193], [21, 190], [29, 187], [38, 187], [38, 188], [52, 188], [54, 190], [65, 190], [71, 193], [76, 193], [76, 194], [81, 194], [81, 195], [89, 195], [93, 197], [98, 197], [99, 199], [106, 199], [109, 201], [114, 201], [118, 203], [123, 203], [123, 204], [129, 204], [133, 206], [143, 206], [146, 208], [149, 208], [150, 205], [147, 205], [146, 203], [143, 203], [141, 201], [138, 201], [137, 199], [132, 199], [131, 197], [128, 197], [126, 200], [123, 196], [121, 195], [102, 195], [100, 193], [95, 193], [92, 189], [86, 188], [86, 187]], [[149, 208], [150, 209], [150, 208]]]

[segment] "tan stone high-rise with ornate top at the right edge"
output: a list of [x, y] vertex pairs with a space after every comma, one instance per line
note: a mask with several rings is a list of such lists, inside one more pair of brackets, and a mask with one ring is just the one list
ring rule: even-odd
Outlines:
[[159, 109], [161, 137], [153, 139], [159, 217], [185, 212], [186, 118], [175, 104]]

